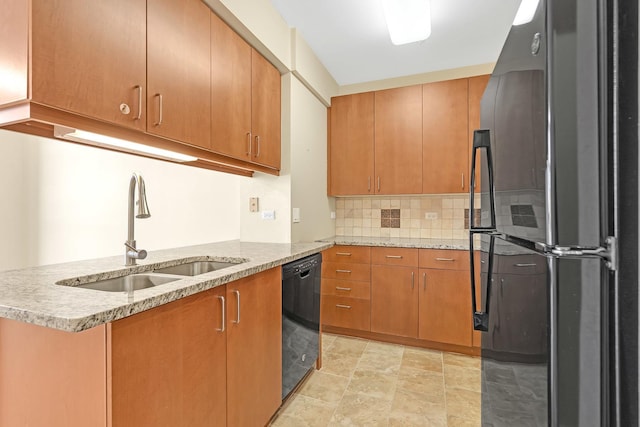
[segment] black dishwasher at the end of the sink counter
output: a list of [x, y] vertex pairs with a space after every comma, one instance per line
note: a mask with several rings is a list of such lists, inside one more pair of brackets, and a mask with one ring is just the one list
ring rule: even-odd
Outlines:
[[321, 267], [321, 254], [282, 266], [282, 399], [318, 359]]

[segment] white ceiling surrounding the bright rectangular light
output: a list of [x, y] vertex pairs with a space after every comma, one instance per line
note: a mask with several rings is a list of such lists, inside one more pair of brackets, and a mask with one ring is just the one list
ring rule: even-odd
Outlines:
[[431, 0], [431, 36], [394, 46], [381, 0], [271, 2], [340, 85], [495, 62], [520, 5], [520, 0]]

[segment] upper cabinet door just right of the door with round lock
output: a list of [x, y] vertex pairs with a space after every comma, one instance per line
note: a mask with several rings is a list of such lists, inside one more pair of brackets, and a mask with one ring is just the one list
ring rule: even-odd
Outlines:
[[147, 2], [147, 131], [204, 148], [211, 146], [210, 13], [200, 0]]

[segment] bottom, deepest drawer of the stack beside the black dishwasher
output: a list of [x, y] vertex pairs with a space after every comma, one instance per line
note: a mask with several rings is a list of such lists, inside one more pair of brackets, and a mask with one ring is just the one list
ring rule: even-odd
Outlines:
[[369, 331], [371, 329], [369, 300], [323, 295], [322, 323], [340, 328]]

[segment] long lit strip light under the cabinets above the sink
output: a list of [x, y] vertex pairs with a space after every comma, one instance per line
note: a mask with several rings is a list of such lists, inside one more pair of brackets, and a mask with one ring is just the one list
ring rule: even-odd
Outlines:
[[124, 139], [113, 138], [106, 135], [100, 135], [98, 133], [72, 129], [64, 126], [54, 126], [53, 136], [56, 138], [67, 139], [69, 141], [94, 145], [96, 147], [119, 148], [129, 153], [143, 154], [174, 162], [194, 162], [198, 160], [197, 157], [187, 156], [186, 154], [176, 153], [175, 151], [163, 150], [162, 148], [150, 147], [148, 145], [138, 144], [137, 142], [131, 142]]

